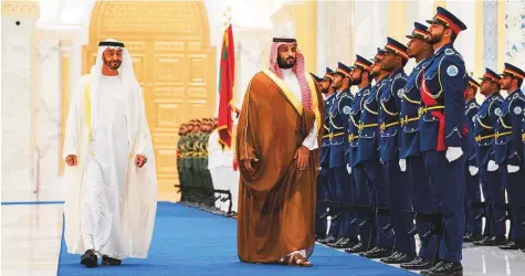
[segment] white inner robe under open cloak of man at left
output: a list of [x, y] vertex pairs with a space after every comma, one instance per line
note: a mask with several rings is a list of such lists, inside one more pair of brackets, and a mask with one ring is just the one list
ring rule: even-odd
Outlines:
[[[91, 155], [81, 193], [84, 247], [103, 254], [123, 252], [119, 223], [124, 201], [129, 141], [120, 77], [103, 76], [96, 108]], [[113, 169], [112, 169], [113, 168]]]

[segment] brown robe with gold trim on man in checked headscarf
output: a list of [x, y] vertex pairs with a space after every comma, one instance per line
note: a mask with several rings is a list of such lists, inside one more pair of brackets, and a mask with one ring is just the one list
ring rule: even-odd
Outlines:
[[[239, 258], [250, 263], [274, 263], [287, 254], [315, 244], [318, 150], [309, 151], [309, 163], [297, 169], [294, 155], [317, 120], [323, 126], [324, 100], [309, 75], [314, 110], [303, 108], [284, 82], [270, 71], [251, 81], [242, 105], [237, 132], [239, 160]], [[318, 145], [321, 146], [321, 135]], [[252, 163], [254, 173], [244, 168]]]

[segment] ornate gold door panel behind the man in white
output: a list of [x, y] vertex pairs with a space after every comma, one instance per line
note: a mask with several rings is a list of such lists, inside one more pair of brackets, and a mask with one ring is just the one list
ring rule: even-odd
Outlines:
[[176, 194], [180, 124], [216, 110], [217, 61], [202, 1], [96, 1], [90, 44], [83, 49], [88, 74], [97, 43], [125, 43], [143, 87], [151, 130], [159, 192]]

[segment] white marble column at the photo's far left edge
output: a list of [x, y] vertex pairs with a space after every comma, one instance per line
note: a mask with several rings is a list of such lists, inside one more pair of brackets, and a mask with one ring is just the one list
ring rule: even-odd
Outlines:
[[2, 201], [32, 200], [32, 38], [39, 2], [2, 1]]

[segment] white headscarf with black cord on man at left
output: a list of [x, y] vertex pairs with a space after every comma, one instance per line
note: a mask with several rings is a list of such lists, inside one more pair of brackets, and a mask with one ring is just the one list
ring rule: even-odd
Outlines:
[[133, 61], [132, 56], [124, 47], [124, 43], [118, 42], [115, 39], [107, 39], [98, 43], [98, 52], [96, 53], [96, 62], [93, 67], [91, 67], [91, 83], [92, 92], [97, 92], [101, 84], [102, 77], [102, 66], [104, 66], [104, 51], [106, 49], [122, 49], [123, 50], [123, 61], [120, 67], [118, 68], [118, 75], [122, 78], [123, 85], [126, 88], [134, 87], [137, 85], [137, 79], [135, 78], [135, 73], [133, 71]]

